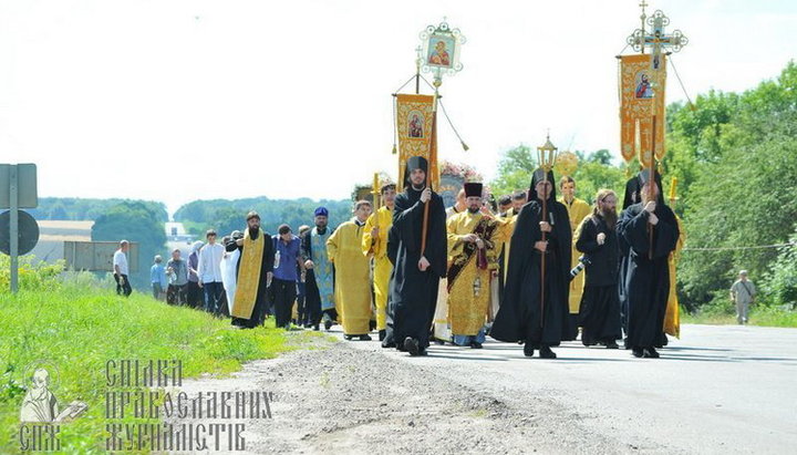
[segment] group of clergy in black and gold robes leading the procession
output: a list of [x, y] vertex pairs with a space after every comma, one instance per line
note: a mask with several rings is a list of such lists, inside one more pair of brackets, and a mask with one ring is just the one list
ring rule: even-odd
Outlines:
[[[545, 359], [579, 328], [586, 347], [618, 349], [623, 340], [636, 358], [658, 358], [665, 332], [679, 335], [680, 220], [658, 174], [627, 183], [618, 216], [611, 189], [599, 190], [590, 209], [573, 197], [572, 178], [557, 182], [542, 169], [506, 211], [485, 204], [480, 183], [465, 183], [446, 209], [427, 173], [426, 159], [410, 158], [401, 193], [383, 185], [382, 207], [372, 213], [358, 201], [354, 218], [334, 230], [327, 209], [315, 210], [297, 257], [308, 327], [340, 323], [346, 340], [371, 340], [375, 319], [382, 347], [411, 355], [426, 355], [431, 342], [479, 349], [489, 335]], [[247, 224], [244, 238], [227, 245], [240, 252], [231, 314], [234, 324], [255, 327], [273, 286], [277, 248], [256, 213]], [[286, 310], [276, 307], [283, 327]]]

